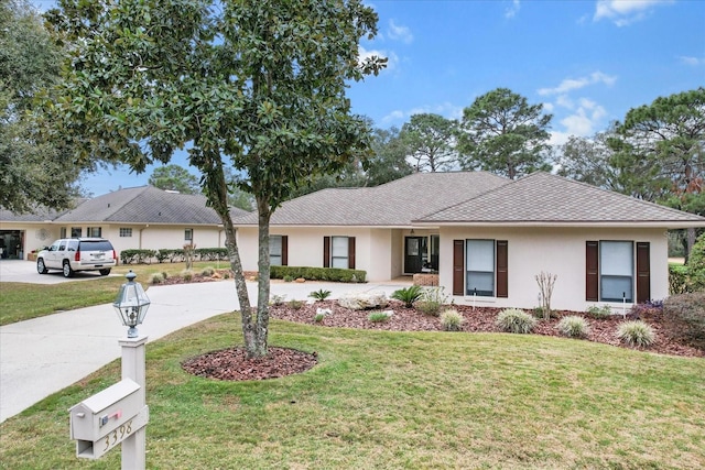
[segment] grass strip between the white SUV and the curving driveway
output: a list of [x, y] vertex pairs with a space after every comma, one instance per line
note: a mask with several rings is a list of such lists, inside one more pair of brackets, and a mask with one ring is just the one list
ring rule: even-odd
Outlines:
[[[216, 263], [194, 263], [194, 272], [200, 272], [206, 266], [216, 266]], [[137, 281], [148, 288], [152, 274], [165, 271], [175, 276], [184, 267], [185, 263], [120, 265], [115, 267], [112, 273], [127, 274], [132, 270], [138, 275]], [[220, 262], [220, 267], [226, 269], [228, 264]], [[61, 284], [0, 283], [0, 326], [56, 311], [109, 304], [115, 300], [120, 285], [124, 282], [124, 276], [110, 276]]]

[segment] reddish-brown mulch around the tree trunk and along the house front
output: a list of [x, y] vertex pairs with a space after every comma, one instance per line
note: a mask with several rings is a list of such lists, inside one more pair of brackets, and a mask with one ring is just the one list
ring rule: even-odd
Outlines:
[[[326, 315], [323, 321], [316, 323], [314, 317], [318, 308], [328, 308], [330, 315]], [[473, 332], [500, 332], [495, 325], [499, 308], [475, 308], [468, 306], [454, 306], [463, 315], [462, 331]], [[424, 315], [414, 308], [405, 308], [401, 302], [390, 300], [384, 310], [393, 310], [393, 315], [387, 321], [373, 323], [368, 319], [369, 311], [352, 310], [340, 307], [336, 300], [316, 302], [304, 304], [301, 308], [292, 308], [288, 304], [270, 307], [271, 318], [286, 321], [315, 325], [322, 328], [358, 328], [377, 329], [387, 331], [442, 331], [441, 319]], [[584, 316], [590, 325], [589, 335], [584, 338], [587, 341], [601, 342], [615, 347], [628, 348], [617, 338], [618, 325], [625, 320], [642, 319], [648, 323], [655, 332], [655, 341], [649, 348], [636, 348], [647, 352], [680, 356], [688, 358], [705, 358], [705, 350], [688, 346], [679, 334], [677, 327], [666, 320], [659, 308], [642, 308], [638, 314], [628, 314], [625, 317], [615, 315], [610, 318], [597, 319], [584, 313], [556, 311], [550, 320], [540, 320], [534, 329], [534, 335], [561, 337], [555, 326], [566, 315]], [[455, 335], [458, 335], [457, 332]], [[280, 378], [293, 373], [300, 373], [311, 369], [316, 363], [316, 354], [285, 348], [269, 348], [267, 358], [249, 359], [242, 348], [231, 348], [221, 351], [209, 352], [185, 361], [182, 365], [187, 372], [217, 380], [263, 380]]]

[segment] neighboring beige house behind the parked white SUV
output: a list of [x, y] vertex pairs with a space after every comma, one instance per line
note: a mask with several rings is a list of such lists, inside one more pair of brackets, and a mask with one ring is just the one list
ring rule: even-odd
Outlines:
[[[10, 240], [8, 258], [25, 258], [58, 238], [104, 237], [118, 252], [127, 249], [225, 247], [220, 218], [202, 195], [165, 192], [153, 186], [119, 189], [78, 200], [63, 212], [17, 216], [0, 210], [0, 239]], [[248, 214], [231, 209], [232, 217]], [[18, 248], [19, 247], [19, 248]]]

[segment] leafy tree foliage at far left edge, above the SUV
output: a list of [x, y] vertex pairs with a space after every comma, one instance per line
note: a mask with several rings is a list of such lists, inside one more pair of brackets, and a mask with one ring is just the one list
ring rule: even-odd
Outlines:
[[61, 53], [26, 1], [0, 2], [0, 206], [13, 212], [66, 208], [79, 193], [69, 149], [32, 114], [58, 77]]

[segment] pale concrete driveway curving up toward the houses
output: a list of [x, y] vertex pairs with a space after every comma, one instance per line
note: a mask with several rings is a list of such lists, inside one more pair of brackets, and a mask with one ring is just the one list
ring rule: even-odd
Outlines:
[[[12, 266], [17, 271], [26, 271], [28, 266], [34, 269], [33, 263], [26, 261], [14, 263], [19, 263]], [[4, 264], [6, 261], [0, 262], [0, 280], [9, 282], [10, 270]], [[29, 276], [29, 273], [18, 272], [14, 278], [21, 275]], [[28, 278], [43, 277], [46, 275], [40, 276], [34, 272], [34, 277]], [[382, 291], [389, 295], [405, 285], [409, 283], [273, 283], [272, 294], [285, 295], [288, 300], [304, 300], [308, 293], [318, 288], [330, 291], [332, 298], [347, 292], [365, 291]], [[248, 291], [254, 303], [257, 284], [248, 283]], [[153, 286], [148, 295], [151, 305], [144, 324], [139, 326], [139, 332], [149, 336], [150, 341], [238, 308], [232, 281]], [[80, 308], [0, 327], [0, 422], [119, 358], [118, 339], [126, 334], [127, 328], [120, 324], [111, 305]]]

